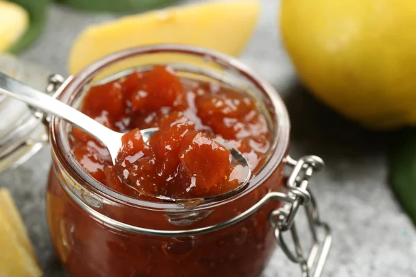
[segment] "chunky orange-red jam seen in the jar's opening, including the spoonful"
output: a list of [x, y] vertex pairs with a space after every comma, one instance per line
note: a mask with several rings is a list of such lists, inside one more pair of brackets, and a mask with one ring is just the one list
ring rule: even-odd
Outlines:
[[[231, 87], [179, 78], [154, 66], [87, 91], [83, 113], [123, 136], [112, 165], [103, 145], [73, 128], [78, 162], [98, 181], [133, 197], [210, 197], [234, 190], [247, 175], [215, 141], [227, 139], [255, 170], [269, 148], [264, 116], [254, 98]], [[159, 127], [148, 143], [139, 129]]]

